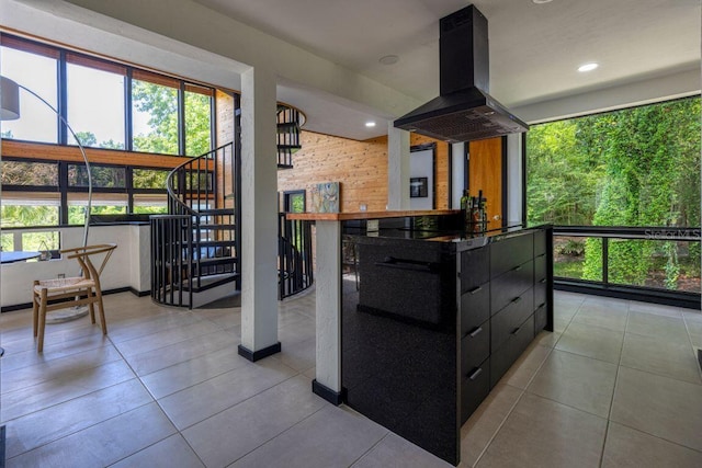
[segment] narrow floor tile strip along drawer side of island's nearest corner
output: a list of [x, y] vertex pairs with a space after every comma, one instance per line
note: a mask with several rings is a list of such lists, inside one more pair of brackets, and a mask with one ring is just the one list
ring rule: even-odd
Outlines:
[[461, 464], [472, 467], [478, 460], [523, 390], [497, 385], [461, 427]]

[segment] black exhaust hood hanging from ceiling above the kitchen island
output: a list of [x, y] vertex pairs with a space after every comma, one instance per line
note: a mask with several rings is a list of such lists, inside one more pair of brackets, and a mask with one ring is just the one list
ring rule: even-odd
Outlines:
[[488, 94], [487, 19], [468, 5], [440, 21], [440, 95], [395, 127], [449, 142], [526, 132], [529, 125]]

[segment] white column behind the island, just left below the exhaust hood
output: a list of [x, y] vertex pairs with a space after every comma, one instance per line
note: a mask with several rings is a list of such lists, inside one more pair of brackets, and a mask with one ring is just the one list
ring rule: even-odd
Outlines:
[[387, 124], [387, 209], [409, 209], [409, 132]]

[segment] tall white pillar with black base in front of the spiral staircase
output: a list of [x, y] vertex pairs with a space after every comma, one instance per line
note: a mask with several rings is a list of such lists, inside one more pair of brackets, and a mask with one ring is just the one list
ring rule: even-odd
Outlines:
[[241, 344], [250, 361], [281, 350], [278, 341], [278, 165], [275, 76], [241, 75]]

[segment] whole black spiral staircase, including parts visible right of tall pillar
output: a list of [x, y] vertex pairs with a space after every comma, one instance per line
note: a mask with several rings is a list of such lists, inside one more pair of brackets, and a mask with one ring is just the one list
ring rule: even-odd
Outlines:
[[[237, 121], [239, 119], [239, 113]], [[278, 107], [278, 167], [301, 148], [299, 111]], [[236, 127], [240, 128], [237, 122]], [[151, 298], [196, 308], [240, 290], [240, 160], [229, 142], [168, 176], [168, 215], [150, 217]], [[279, 299], [312, 285], [309, 225], [279, 220]], [[234, 283], [234, 287], [233, 287]]]

